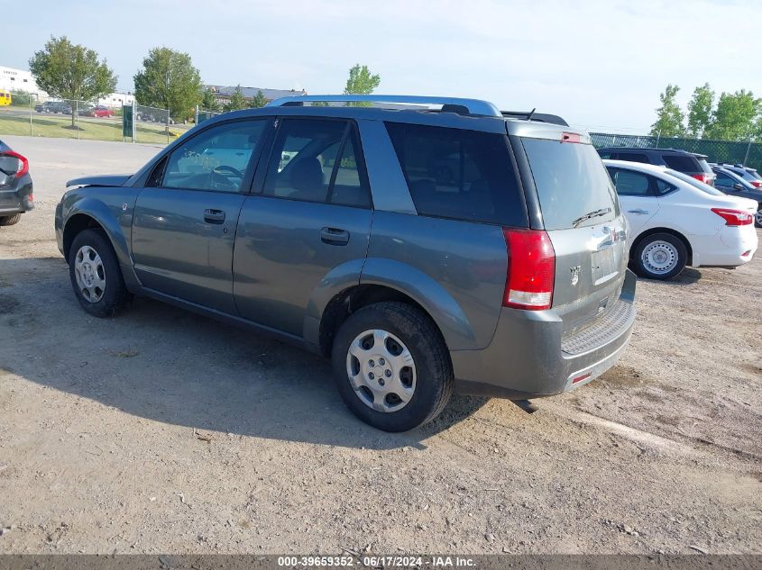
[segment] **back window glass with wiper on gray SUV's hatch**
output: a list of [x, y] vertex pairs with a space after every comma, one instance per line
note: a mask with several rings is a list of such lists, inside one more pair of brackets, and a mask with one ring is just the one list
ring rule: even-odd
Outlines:
[[546, 230], [565, 230], [585, 214], [610, 213], [580, 225], [608, 222], [619, 214], [611, 178], [592, 145], [522, 139], [535, 178]]

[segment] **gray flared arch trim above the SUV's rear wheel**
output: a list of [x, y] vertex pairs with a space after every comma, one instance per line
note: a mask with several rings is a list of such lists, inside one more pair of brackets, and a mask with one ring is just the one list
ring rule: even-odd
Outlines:
[[367, 258], [360, 284], [384, 285], [407, 294], [434, 319], [450, 350], [477, 348], [473, 325], [460, 305], [442, 285], [419, 269], [392, 259]]

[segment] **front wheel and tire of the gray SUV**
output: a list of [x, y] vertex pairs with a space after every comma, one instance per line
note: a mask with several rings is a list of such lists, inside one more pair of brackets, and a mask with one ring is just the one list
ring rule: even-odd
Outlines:
[[80, 231], [74, 238], [69, 279], [79, 304], [94, 317], [113, 317], [132, 299], [114, 248], [102, 230]]

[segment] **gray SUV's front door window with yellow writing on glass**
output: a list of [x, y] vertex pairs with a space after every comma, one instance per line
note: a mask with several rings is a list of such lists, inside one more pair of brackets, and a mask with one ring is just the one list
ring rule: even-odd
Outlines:
[[161, 185], [241, 192], [246, 168], [266, 120], [226, 122], [203, 131], [172, 151]]

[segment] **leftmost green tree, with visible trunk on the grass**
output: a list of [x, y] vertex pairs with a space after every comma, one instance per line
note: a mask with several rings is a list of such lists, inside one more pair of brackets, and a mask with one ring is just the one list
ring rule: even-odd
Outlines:
[[[92, 101], [116, 88], [116, 76], [106, 59], [99, 61], [96, 51], [75, 45], [66, 36], [50, 36], [29, 60], [29, 70], [43, 91], [61, 99]], [[77, 105], [71, 101], [72, 128], [76, 112]]]

